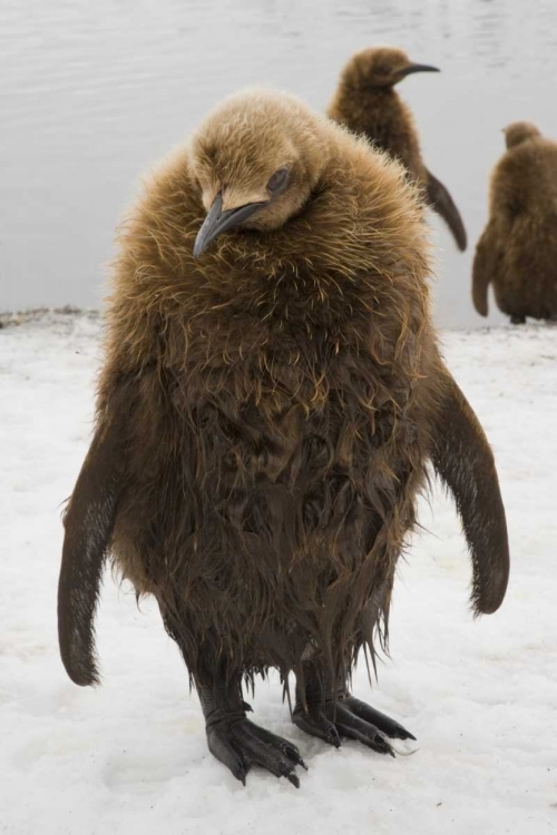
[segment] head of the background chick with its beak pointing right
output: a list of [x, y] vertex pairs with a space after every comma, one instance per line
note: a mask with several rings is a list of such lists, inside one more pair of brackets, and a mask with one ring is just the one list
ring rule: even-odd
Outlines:
[[343, 80], [355, 88], [393, 87], [412, 72], [439, 72], [428, 63], [413, 63], [402, 49], [375, 47], [356, 52], [344, 68]]

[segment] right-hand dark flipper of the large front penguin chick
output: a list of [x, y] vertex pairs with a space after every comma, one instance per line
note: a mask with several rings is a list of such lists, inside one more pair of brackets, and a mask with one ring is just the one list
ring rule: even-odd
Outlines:
[[447, 371], [432, 428], [431, 461], [455, 497], [470, 551], [476, 615], [501, 605], [509, 577], [509, 544], [495, 460], [476, 414]]

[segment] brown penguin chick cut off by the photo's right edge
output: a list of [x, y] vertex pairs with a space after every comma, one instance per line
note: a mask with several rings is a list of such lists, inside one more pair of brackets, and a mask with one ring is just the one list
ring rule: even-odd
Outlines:
[[512, 324], [557, 318], [557, 143], [535, 125], [505, 129], [507, 151], [491, 175], [489, 220], [472, 268], [472, 299], [488, 315], [488, 286]]

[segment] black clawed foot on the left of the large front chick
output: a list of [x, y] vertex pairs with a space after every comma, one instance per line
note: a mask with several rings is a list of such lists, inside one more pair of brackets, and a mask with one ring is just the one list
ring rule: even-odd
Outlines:
[[306, 766], [296, 746], [260, 728], [250, 719], [238, 719], [235, 715], [223, 717], [207, 726], [207, 741], [213, 756], [229, 768], [244, 786], [247, 773], [255, 765], [266, 768], [275, 777], [286, 777], [300, 788], [295, 766]]

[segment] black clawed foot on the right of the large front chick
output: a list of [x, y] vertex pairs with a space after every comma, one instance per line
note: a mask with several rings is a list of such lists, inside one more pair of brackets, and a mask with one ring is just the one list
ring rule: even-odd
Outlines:
[[342, 738], [358, 739], [368, 748], [379, 754], [390, 754], [391, 757], [394, 757], [394, 752], [385, 736], [416, 739], [398, 721], [349, 695], [338, 701], [309, 704], [306, 709], [299, 701], [292, 719], [301, 730], [336, 748]]

